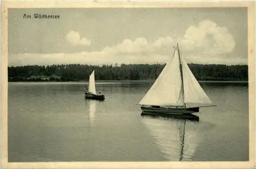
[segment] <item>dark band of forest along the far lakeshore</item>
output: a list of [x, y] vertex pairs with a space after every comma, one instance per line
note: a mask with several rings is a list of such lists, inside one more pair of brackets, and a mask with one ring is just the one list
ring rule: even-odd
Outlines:
[[[88, 81], [95, 70], [95, 80], [155, 80], [165, 64], [116, 65], [27, 65], [8, 66], [8, 81]], [[197, 80], [248, 80], [248, 65], [188, 64]]]

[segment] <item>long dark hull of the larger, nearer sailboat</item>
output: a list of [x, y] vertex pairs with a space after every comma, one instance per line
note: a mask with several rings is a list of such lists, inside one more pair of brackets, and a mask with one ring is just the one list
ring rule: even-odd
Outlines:
[[191, 114], [191, 113], [199, 112], [199, 107], [154, 108], [154, 107], [141, 106], [141, 110], [143, 112], [151, 112], [155, 114]]

